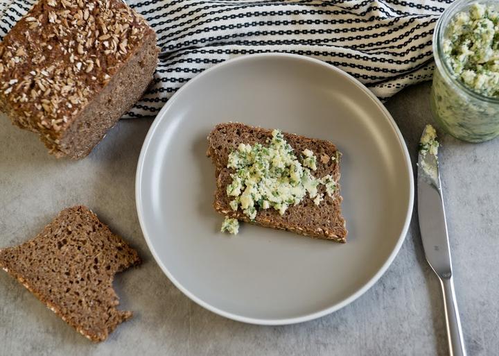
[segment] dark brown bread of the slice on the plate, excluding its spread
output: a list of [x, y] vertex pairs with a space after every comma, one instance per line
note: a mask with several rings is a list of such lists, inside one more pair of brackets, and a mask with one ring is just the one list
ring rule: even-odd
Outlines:
[[[334, 144], [322, 139], [310, 139], [290, 133], [283, 133], [283, 135], [297, 156], [305, 149], [313, 151], [317, 157], [317, 171], [313, 172], [316, 178], [331, 174], [336, 182], [340, 180], [341, 153]], [[274, 209], [260, 210], [256, 214], [256, 219], [250, 221], [240, 209], [237, 211], [231, 209], [229, 206], [231, 198], [227, 196], [226, 189], [232, 181], [230, 174], [234, 173], [234, 169], [227, 168], [229, 153], [240, 143], [253, 145], [259, 142], [268, 145], [267, 140], [270, 137], [272, 137], [272, 130], [239, 123], [218, 124], [213, 128], [208, 136], [207, 155], [211, 157], [216, 167], [217, 189], [213, 203], [215, 210], [227, 217], [268, 228], [290, 230], [317, 239], [346, 242], [347, 229], [341, 214], [340, 185], [332, 197], [324, 194], [324, 186], [319, 185], [319, 193], [324, 194], [324, 201], [315, 205], [307, 194], [298, 205], [288, 207], [283, 215]]]

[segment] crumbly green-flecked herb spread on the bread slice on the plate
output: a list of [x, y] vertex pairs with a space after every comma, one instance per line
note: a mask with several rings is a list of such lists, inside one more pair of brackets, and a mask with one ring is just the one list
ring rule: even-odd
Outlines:
[[324, 185], [326, 194], [333, 196], [338, 187], [334, 178], [331, 175], [315, 178], [313, 175], [317, 170], [313, 151], [305, 149], [298, 156], [299, 159], [280, 130], [272, 131], [268, 146], [239, 144], [229, 154], [227, 164], [227, 168], [235, 170], [227, 185], [231, 209], [240, 208], [254, 220], [259, 210], [274, 209], [282, 215], [307, 195], [319, 205], [324, 199], [317, 190], [319, 185]]

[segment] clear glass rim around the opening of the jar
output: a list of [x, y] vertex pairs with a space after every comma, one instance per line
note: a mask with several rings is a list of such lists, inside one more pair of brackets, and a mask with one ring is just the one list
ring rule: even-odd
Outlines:
[[435, 30], [433, 31], [433, 56], [435, 58], [435, 65], [437, 66], [437, 68], [440, 71], [444, 71], [446, 77], [453, 84], [457, 85], [457, 87], [459, 87], [459, 89], [464, 91], [466, 94], [469, 94], [470, 96], [473, 96], [473, 98], [481, 101], [487, 101], [489, 103], [499, 103], [499, 97], [482, 95], [464, 85], [464, 83], [462, 83], [461, 80], [457, 80], [457, 78], [454, 76], [453, 71], [448, 67], [446, 60], [443, 60], [444, 53], [442, 52], [440, 46], [441, 40], [444, 36], [444, 31], [446, 30], [446, 25], [448, 24], [450, 19], [453, 19], [454, 15], [456, 15], [457, 10], [459, 11], [464, 10], [464, 8], [462, 8], [463, 5], [471, 6], [473, 5], [473, 3], [489, 3], [489, 2], [491, 1], [456, 0], [452, 3], [452, 5], [446, 8], [446, 10], [442, 13], [440, 18], [438, 19], [437, 24], [435, 25]]

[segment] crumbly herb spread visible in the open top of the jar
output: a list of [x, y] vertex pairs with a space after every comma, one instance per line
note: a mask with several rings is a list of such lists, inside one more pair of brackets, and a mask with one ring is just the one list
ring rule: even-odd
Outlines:
[[474, 3], [457, 13], [442, 42], [444, 60], [474, 92], [499, 97], [499, 12]]

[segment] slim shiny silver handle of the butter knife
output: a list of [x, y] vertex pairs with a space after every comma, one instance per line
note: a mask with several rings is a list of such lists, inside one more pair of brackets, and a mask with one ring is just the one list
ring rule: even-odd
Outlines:
[[450, 356], [466, 356], [464, 339], [462, 336], [461, 321], [454, 291], [453, 277], [439, 278], [444, 295], [444, 308], [446, 312], [447, 341]]

